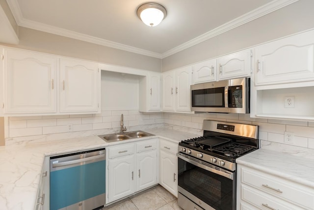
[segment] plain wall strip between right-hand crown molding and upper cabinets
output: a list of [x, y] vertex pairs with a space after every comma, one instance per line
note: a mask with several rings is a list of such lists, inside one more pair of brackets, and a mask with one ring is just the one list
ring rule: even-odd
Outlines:
[[162, 72], [312, 29], [314, 28], [313, 8], [314, 0], [299, 0], [162, 59]]

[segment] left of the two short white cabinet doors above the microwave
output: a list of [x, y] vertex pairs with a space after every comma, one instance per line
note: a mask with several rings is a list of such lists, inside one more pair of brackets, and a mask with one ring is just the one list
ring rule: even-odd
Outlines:
[[193, 84], [216, 81], [217, 60], [207, 60], [193, 65]]

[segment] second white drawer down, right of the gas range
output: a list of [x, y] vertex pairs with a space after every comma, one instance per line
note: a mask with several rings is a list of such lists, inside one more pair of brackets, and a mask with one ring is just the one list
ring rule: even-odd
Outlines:
[[241, 199], [262, 210], [303, 210], [248, 186], [241, 186]]

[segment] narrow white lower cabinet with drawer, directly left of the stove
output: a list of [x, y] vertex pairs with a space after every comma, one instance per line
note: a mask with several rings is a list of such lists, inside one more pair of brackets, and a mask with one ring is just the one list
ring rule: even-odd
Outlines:
[[178, 144], [159, 141], [159, 184], [178, 197]]

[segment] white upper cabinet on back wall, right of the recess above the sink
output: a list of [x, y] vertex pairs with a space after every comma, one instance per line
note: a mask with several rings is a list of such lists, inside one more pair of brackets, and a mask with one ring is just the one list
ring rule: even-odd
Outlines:
[[161, 109], [161, 74], [149, 72], [139, 79], [139, 111], [160, 112]]

